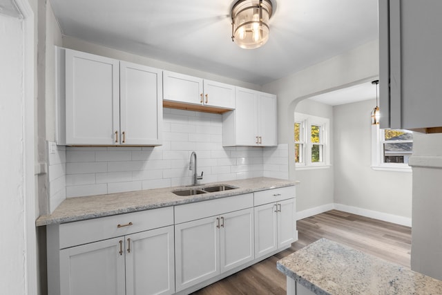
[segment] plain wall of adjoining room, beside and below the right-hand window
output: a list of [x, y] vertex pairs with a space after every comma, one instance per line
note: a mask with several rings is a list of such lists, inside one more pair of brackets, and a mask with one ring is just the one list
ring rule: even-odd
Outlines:
[[376, 99], [334, 106], [334, 202], [412, 217], [412, 173], [375, 171], [370, 112]]

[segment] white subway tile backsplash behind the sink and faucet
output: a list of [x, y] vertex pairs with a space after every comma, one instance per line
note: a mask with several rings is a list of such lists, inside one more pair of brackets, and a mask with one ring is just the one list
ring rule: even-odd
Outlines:
[[288, 144], [223, 147], [222, 115], [169, 108], [163, 114], [162, 146], [67, 147], [49, 157], [50, 179], [65, 178], [68, 198], [189, 185], [192, 151], [198, 175], [204, 171], [202, 184], [263, 175], [288, 179]]

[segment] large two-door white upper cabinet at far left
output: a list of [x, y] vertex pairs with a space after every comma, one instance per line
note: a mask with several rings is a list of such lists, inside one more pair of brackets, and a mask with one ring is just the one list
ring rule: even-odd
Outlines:
[[57, 144], [161, 144], [161, 70], [57, 48], [57, 71]]

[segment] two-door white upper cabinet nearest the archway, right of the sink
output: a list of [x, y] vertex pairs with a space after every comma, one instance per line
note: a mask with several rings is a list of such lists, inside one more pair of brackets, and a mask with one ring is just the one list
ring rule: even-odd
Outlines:
[[236, 109], [222, 115], [222, 145], [276, 144], [276, 95], [236, 87]]

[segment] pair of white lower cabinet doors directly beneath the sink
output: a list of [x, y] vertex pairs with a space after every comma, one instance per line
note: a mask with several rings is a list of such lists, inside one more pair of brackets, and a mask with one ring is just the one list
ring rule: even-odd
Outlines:
[[175, 225], [177, 292], [254, 259], [253, 209]]

